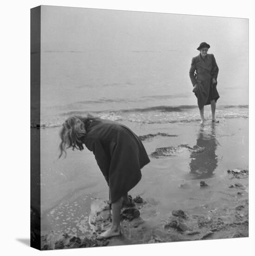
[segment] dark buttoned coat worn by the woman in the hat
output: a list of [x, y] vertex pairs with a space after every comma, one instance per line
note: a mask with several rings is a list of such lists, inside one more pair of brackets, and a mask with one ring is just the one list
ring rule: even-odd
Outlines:
[[[195, 95], [199, 109], [204, 105], [209, 105], [210, 100], [217, 101], [220, 97], [216, 85], [212, 84], [213, 78], [217, 81], [218, 73], [219, 68], [213, 54], [207, 54], [205, 60], [200, 54], [192, 58], [190, 80], [193, 86], [197, 84]], [[209, 95], [209, 93], [211, 94]]]

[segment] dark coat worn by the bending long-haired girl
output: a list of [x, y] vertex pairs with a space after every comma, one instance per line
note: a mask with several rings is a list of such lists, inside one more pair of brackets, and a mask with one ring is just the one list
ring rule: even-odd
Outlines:
[[83, 142], [95, 155], [114, 203], [140, 181], [141, 168], [150, 159], [138, 136], [123, 124], [98, 119], [86, 130]]

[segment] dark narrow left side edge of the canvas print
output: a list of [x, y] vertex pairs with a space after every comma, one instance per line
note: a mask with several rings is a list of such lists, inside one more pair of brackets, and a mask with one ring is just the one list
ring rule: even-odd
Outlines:
[[41, 7], [30, 12], [30, 246], [40, 247], [40, 33]]

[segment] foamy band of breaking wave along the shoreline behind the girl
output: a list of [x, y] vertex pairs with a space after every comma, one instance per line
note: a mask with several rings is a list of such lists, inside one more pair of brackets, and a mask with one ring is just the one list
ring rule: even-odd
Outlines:
[[[102, 119], [111, 121], [129, 121], [144, 124], [164, 124], [164, 123], [189, 123], [200, 120], [197, 106], [155, 106], [148, 108], [130, 108], [119, 110], [100, 110], [100, 111], [83, 111], [73, 110], [62, 112], [53, 117], [46, 117], [41, 120], [41, 124], [33, 123], [31, 128], [54, 128], [60, 127], [65, 119], [70, 115], [86, 115], [91, 113]], [[216, 112], [218, 119], [248, 118], [248, 105], [237, 106], [219, 106]], [[205, 112], [205, 118], [210, 118], [210, 111]]]

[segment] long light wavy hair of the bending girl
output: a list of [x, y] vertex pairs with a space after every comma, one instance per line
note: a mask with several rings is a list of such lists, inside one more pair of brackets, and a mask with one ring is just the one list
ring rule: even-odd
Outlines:
[[59, 136], [61, 142], [59, 144], [60, 154], [59, 158], [65, 153], [66, 149], [77, 148], [83, 150], [82, 137], [86, 134], [86, 125], [89, 121], [99, 119], [99, 117], [87, 114], [86, 116], [82, 115], [71, 115], [69, 116], [62, 125], [61, 130], [59, 131]]

